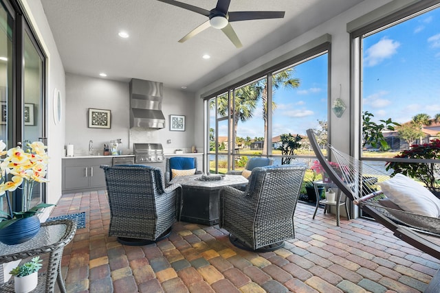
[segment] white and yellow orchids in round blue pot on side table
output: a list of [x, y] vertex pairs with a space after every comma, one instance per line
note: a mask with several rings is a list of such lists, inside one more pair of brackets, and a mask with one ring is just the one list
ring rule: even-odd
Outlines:
[[[31, 207], [34, 183], [47, 182], [47, 148], [40, 141], [26, 145], [27, 152], [22, 148], [10, 148], [0, 141], [0, 156], [5, 159], [0, 163], [0, 200], [8, 202], [8, 213], [0, 211], [0, 242], [19, 244], [26, 242], [40, 229], [40, 220], [36, 216], [39, 209], [53, 204], [40, 203]], [[12, 211], [10, 192], [21, 189], [21, 210]]]

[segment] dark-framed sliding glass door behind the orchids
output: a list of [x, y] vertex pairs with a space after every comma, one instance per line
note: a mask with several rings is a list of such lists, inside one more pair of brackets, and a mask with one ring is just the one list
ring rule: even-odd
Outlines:
[[[44, 72], [45, 56], [19, 3], [0, 0], [0, 139], [7, 148], [47, 143]], [[14, 209], [21, 206], [19, 192], [11, 198]], [[33, 205], [45, 200], [43, 185], [34, 187], [32, 198]]]

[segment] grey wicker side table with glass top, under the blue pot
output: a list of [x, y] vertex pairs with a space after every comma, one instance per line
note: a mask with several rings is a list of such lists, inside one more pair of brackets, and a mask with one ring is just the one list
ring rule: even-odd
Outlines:
[[[71, 220], [57, 220], [41, 223], [41, 229], [28, 242], [16, 245], [0, 243], [0, 263], [34, 257], [49, 253], [47, 270], [39, 273], [39, 283], [32, 292], [54, 292], [55, 281], [62, 293], [66, 293], [61, 275], [61, 258], [63, 249], [76, 233], [76, 223]], [[0, 292], [14, 292], [14, 278], [0, 285]]]

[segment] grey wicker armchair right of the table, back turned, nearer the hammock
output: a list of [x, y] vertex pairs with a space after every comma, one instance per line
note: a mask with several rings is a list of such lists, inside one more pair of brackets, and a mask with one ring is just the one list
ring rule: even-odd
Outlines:
[[294, 213], [305, 169], [303, 164], [256, 167], [245, 191], [220, 191], [220, 226], [239, 248], [272, 251], [295, 237]]

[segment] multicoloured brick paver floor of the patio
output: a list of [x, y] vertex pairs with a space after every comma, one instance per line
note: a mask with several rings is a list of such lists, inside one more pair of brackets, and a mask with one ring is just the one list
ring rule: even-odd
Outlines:
[[219, 226], [177, 222], [168, 239], [124, 246], [109, 237], [105, 191], [66, 194], [51, 216], [86, 212], [65, 247], [68, 292], [423, 292], [440, 261], [381, 224], [341, 219], [298, 203], [296, 238], [271, 253], [230, 244]]

